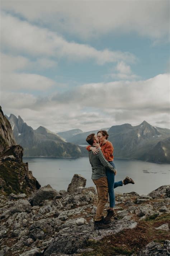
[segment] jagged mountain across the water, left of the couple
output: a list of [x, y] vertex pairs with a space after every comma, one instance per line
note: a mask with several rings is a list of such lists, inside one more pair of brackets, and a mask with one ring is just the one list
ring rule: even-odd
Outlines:
[[87, 155], [83, 147], [67, 143], [58, 134], [45, 127], [32, 127], [24, 123], [23, 119], [11, 114], [8, 118], [13, 128], [15, 140], [24, 148], [25, 157], [79, 157]]

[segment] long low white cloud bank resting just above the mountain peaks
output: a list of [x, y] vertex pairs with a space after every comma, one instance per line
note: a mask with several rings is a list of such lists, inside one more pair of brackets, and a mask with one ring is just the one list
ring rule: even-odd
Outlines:
[[43, 125], [53, 132], [90, 131], [123, 123], [137, 125], [143, 120], [168, 128], [168, 74], [140, 81], [84, 84], [48, 97], [18, 92], [3, 92], [2, 96], [5, 114], [22, 116], [34, 129]]

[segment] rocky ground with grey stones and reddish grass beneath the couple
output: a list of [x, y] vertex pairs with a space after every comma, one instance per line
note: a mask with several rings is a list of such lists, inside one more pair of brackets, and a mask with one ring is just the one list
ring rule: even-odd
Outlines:
[[75, 175], [69, 192], [47, 185], [31, 197], [1, 195], [0, 256], [170, 255], [170, 186], [115, 193], [117, 219], [94, 230], [97, 195], [85, 183]]

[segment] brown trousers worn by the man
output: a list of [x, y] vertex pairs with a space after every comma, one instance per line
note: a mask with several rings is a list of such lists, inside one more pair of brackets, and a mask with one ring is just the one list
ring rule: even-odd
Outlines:
[[102, 177], [99, 178], [98, 180], [93, 180], [93, 182], [96, 185], [98, 193], [95, 221], [99, 221], [101, 220], [101, 216], [103, 215], [105, 204], [108, 201], [108, 180], [106, 177]]

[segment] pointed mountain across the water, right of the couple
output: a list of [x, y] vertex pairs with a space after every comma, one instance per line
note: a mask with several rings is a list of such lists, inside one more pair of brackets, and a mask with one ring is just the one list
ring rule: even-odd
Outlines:
[[169, 129], [153, 127], [143, 121], [134, 127], [131, 124], [112, 126], [108, 133], [115, 158], [170, 163]]

